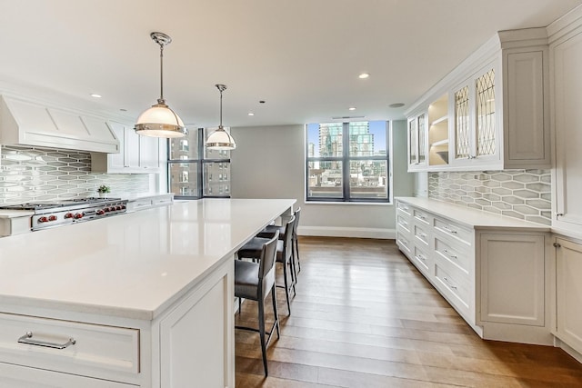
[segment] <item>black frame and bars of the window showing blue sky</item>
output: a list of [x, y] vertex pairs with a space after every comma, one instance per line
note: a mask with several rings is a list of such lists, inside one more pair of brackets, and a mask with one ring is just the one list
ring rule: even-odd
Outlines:
[[[350, 156], [349, 149], [349, 124], [350, 122], [342, 123], [342, 156], [309, 156], [309, 134], [308, 125], [305, 125], [305, 200], [306, 203], [360, 203], [360, 204], [390, 204], [392, 194], [392, 179], [391, 179], [391, 165], [390, 165], [390, 133], [392, 123], [389, 120], [373, 120], [383, 121], [386, 123], [386, 155], [372, 155], [372, 156]], [[370, 121], [366, 121], [370, 123]], [[359, 122], [358, 122], [359, 123]], [[314, 123], [315, 124], [315, 123]], [[328, 124], [328, 123], [319, 123]], [[329, 123], [336, 124], [336, 123]], [[350, 162], [358, 160], [377, 160], [386, 161], [386, 198], [350, 198]], [[311, 162], [341, 162], [342, 164], [342, 197], [337, 196], [310, 196], [309, 195], [309, 163]]]

